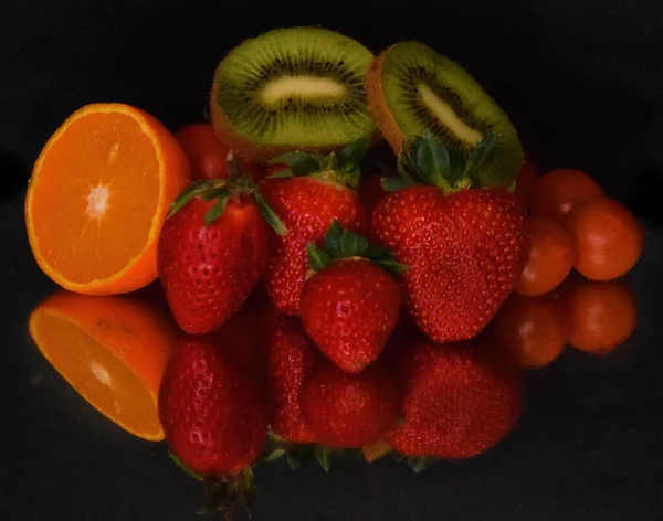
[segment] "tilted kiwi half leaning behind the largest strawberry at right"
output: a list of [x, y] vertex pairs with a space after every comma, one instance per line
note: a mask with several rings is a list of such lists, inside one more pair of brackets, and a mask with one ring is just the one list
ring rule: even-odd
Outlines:
[[419, 42], [386, 50], [367, 75], [369, 110], [396, 153], [403, 140], [430, 131], [472, 162], [482, 140], [476, 188], [505, 187], [518, 173], [523, 149], [495, 100], [460, 65]]

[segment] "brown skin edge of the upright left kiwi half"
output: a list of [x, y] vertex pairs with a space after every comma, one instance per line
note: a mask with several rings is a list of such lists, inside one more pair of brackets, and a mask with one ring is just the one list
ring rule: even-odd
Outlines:
[[[219, 65], [217, 66], [217, 68], [214, 71], [214, 76], [213, 76], [214, 79], [212, 81], [212, 88], [210, 92], [210, 116], [212, 118], [212, 126], [214, 127], [214, 131], [217, 132], [217, 136], [219, 137], [221, 142], [223, 142], [223, 145], [225, 145], [228, 148], [230, 148], [231, 150], [236, 152], [242, 159], [245, 159], [246, 161], [254, 161], [254, 162], [266, 162], [270, 159], [275, 158], [276, 156], [278, 156], [281, 153], [295, 151], [295, 148], [287, 146], [287, 145], [278, 146], [278, 145], [255, 143], [255, 142], [240, 136], [239, 134], [236, 134], [232, 129], [232, 127], [228, 124], [228, 120], [225, 119], [225, 117], [219, 109], [218, 104], [215, 103], [217, 88], [218, 88], [218, 86], [217, 86], [218, 82], [215, 81], [215, 78], [218, 76], [220, 68], [222, 67], [222, 65], [224, 65], [224, 61], [225, 61], [225, 59], [223, 59], [221, 61], [221, 63], [219, 63]], [[380, 129], [378, 127], [376, 127], [376, 129], [369, 136], [369, 138], [370, 138], [369, 148], [372, 148], [378, 142], [380, 142], [380, 140], [382, 139]], [[339, 151], [340, 149], [343, 149], [343, 147], [334, 147], [334, 146], [330, 146], [330, 147], [307, 147], [307, 146], [296, 147], [296, 150], [301, 151], [301, 152], [320, 153], [320, 155]]]

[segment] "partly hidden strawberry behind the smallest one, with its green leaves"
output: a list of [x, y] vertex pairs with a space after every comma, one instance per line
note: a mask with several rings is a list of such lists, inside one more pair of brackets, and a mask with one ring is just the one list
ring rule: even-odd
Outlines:
[[368, 216], [355, 192], [358, 162], [368, 141], [351, 145], [338, 156], [293, 152], [271, 162], [287, 164], [262, 183], [265, 201], [288, 230], [275, 238], [265, 272], [265, 286], [281, 312], [298, 315], [299, 296], [308, 269], [308, 243], [322, 243], [333, 220], [358, 233], [368, 228]]

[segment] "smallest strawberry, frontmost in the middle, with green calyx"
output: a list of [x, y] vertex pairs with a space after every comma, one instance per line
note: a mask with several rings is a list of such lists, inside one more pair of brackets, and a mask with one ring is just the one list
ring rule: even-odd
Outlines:
[[337, 221], [324, 247], [308, 245], [315, 274], [302, 290], [302, 322], [329, 360], [358, 373], [379, 357], [399, 319], [401, 290], [383, 268], [404, 266]]

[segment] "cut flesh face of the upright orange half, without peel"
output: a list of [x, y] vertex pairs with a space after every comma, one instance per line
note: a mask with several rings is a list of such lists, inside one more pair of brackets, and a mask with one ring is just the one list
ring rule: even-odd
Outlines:
[[[131, 116], [92, 113], [46, 155], [32, 201], [40, 211], [31, 215], [42, 258], [75, 284], [113, 277], [149, 241], [160, 193], [155, 145]], [[63, 166], [67, 172], [55, 171]]]

